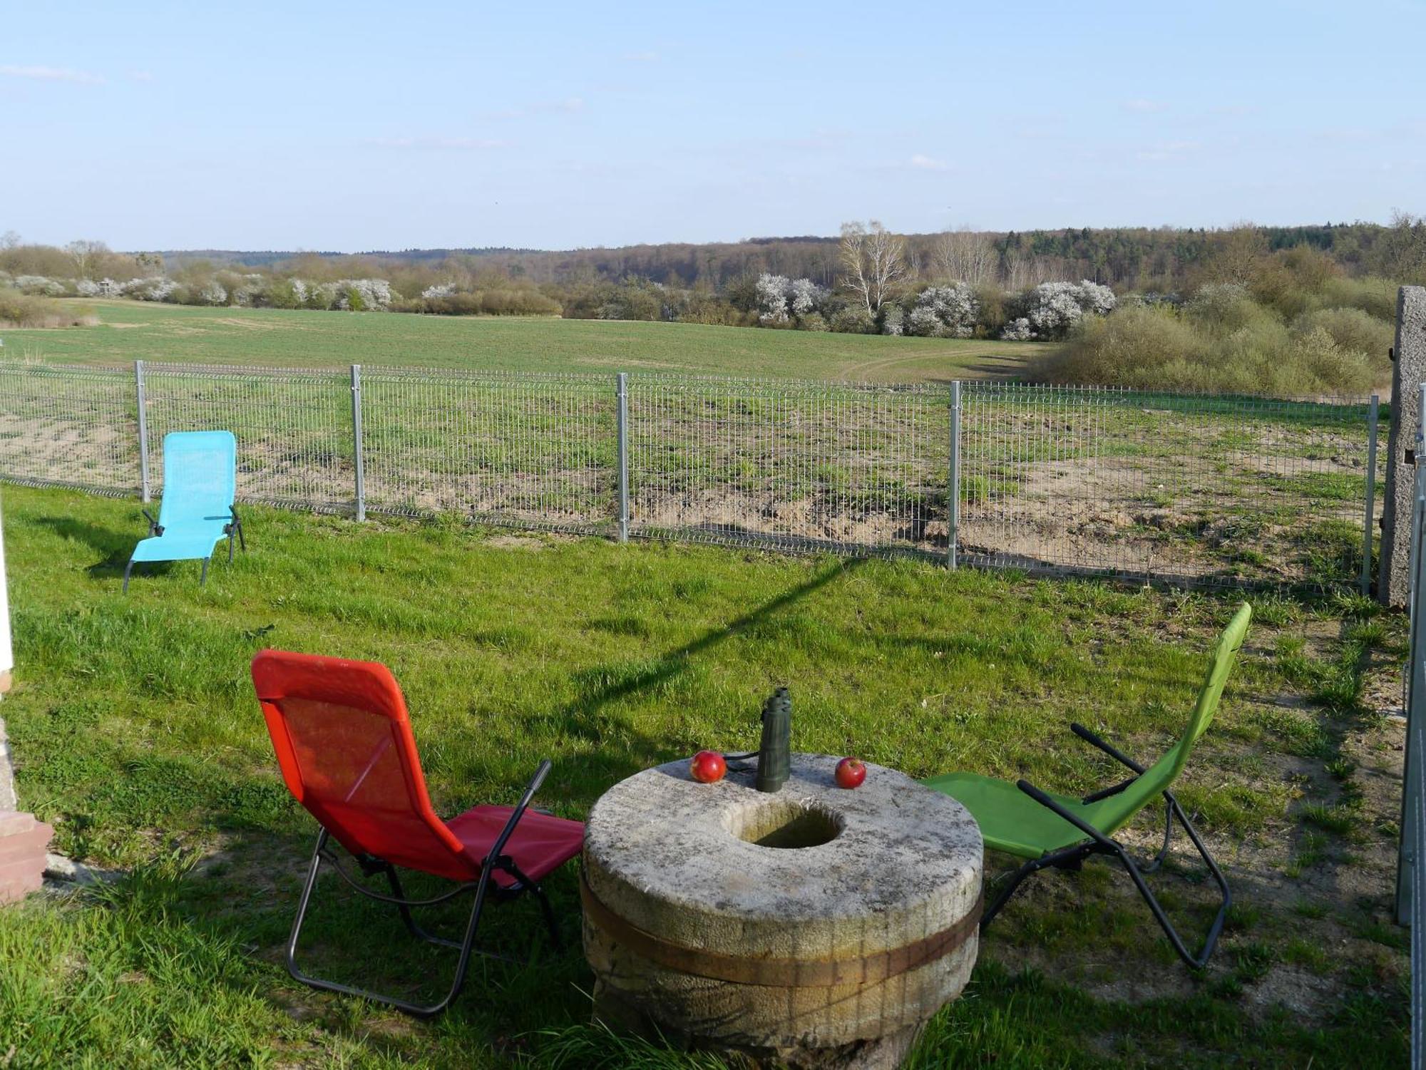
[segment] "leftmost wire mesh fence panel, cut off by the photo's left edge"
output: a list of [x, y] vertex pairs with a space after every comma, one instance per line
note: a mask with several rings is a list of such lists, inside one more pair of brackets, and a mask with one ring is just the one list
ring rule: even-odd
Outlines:
[[0, 478], [137, 494], [134, 374], [0, 364]]

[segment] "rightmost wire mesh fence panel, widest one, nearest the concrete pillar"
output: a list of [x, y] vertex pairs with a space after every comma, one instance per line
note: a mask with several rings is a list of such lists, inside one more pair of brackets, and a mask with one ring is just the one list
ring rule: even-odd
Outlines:
[[1360, 572], [1368, 399], [968, 382], [961, 552], [1195, 584]]

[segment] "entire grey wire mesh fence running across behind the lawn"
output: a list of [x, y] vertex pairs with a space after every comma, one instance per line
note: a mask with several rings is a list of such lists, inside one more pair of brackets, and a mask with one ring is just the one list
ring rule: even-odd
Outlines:
[[[937, 558], [954, 486], [963, 562], [1215, 585], [1353, 584], [1375, 531], [1368, 399], [965, 382], [953, 435], [948, 384], [626, 378], [620, 422], [615, 375], [147, 365], [150, 482], [227, 428], [242, 501]], [[0, 364], [0, 477], [134, 492], [134, 379]]]

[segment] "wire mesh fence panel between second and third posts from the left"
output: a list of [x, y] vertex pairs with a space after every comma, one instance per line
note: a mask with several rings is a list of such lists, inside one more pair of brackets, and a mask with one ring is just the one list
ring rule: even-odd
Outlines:
[[368, 512], [610, 529], [613, 375], [362, 365], [361, 378]]

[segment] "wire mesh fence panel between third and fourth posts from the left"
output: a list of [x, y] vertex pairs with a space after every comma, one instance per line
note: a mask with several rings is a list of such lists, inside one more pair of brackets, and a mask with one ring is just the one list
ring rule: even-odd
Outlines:
[[636, 535], [944, 555], [948, 465], [945, 387], [629, 377]]

